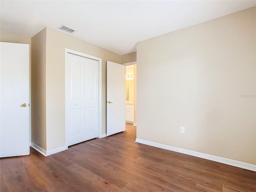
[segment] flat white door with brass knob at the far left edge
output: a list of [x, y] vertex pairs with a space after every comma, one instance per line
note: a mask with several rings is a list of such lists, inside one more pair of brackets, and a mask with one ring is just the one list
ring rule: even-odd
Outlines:
[[28, 155], [29, 45], [0, 42], [0, 56], [0, 157]]

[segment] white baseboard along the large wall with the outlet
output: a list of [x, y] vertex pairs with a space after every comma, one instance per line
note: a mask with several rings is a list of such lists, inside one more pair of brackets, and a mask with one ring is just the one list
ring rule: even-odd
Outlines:
[[256, 165], [254, 165], [254, 164], [240, 162], [240, 161], [223, 158], [223, 157], [219, 157], [219, 156], [214, 156], [214, 155], [209, 155], [209, 154], [205, 154], [205, 153], [200, 153], [200, 152], [196, 152], [196, 151], [186, 150], [186, 149], [173, 147], [173, 146], [169, 146], [169, 145], [164, 145], [164, 144], [151, 142], [151, 141], [138, 139], [138, 138], [136, 138], [135, 142], [162, 148], [162, 149], [166, 149], [166, 150], [170, 150], [170, 151], [175, 151], [175, 152], [179, 152], [179, 153], [183, 153], [183, 154], [187, 154], [187, 155], [191, 155], [191, 156], [195, 156], [195, 157], [200, 157], [203, 159], [208, 159], [208, 160], [212, 160], [212, 161], [216, 161], [216, 162], [220, 162], [220, 163], [224, 163], [224, 164], [228, 164], [231, 166], [240, 167], [243, 169], [247, 169], [247, 170], [256, 172]]

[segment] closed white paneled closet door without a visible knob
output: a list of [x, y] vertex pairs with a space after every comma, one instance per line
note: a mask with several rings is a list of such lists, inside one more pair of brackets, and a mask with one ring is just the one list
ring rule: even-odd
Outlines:
[[96, 60], [68, 53], [67, 146], [98, 137], [98, 66]]

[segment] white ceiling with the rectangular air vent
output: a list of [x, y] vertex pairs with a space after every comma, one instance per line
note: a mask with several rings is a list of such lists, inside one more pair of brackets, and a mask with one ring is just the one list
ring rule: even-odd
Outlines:
[[[0, 27], [29, 38], [45, 26], [120, 55], [136, 42], [256, 6], [247, 1], [3, 1]], [[61, 31], [61, 30], [59, 30]], [[64, 32], [67, 33], [67, 32]]]

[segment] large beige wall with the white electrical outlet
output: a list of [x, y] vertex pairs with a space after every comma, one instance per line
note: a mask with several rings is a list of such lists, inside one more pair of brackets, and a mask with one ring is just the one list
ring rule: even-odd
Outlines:
[[137, 138], [256, 164], [255, 34], [254, 7], [139, 42]]

